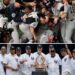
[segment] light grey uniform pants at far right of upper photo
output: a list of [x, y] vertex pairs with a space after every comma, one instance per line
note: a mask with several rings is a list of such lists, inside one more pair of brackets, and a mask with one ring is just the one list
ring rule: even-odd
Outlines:
[[75, 21], [61, 23], [61, 36], [64, 43], [72, 43], [71, 36], [75, 28]]

